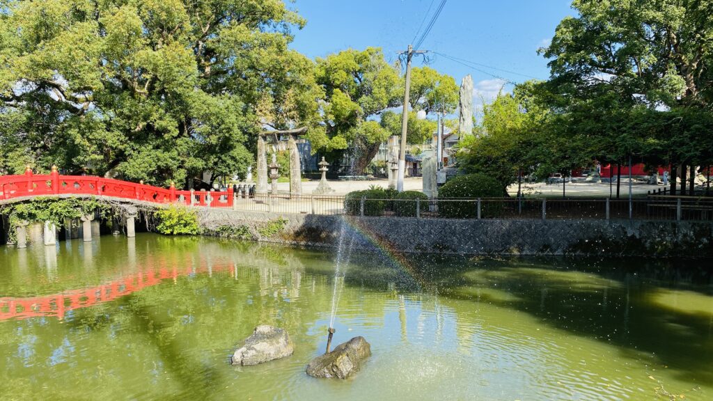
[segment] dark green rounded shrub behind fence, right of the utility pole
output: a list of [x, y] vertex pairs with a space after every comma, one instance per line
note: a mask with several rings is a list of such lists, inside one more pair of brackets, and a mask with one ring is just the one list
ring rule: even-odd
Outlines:
[[[501, 184], [495, 178], [481, 173], [452, 178], [438, 190], [439, 199], [501, 198], [502, 196], [503, 187]], [[502, 209], [502, 203], [482, 203], [481, 217], [497, 217]], [[438, 213], [448, 218], [473, 218], [478, 215], [478, 208], [473, 200], [468, 202], [439, 202]]]

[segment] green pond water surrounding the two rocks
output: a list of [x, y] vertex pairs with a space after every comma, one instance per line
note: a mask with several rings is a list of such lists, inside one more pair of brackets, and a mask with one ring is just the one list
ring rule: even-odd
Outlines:
[[[354, 254], [324, 352], [334, 250], [105, 236], [0, 247], [2, 400], [712, 400], [709, 262]], [[258, 324], [294, 355], [230, 355]]]

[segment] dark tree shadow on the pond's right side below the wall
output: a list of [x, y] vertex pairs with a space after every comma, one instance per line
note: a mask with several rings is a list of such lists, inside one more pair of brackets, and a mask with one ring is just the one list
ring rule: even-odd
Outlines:
[[[713, 382], [713, 280], [704, 263], [448, 258], [422, 263], [442, 296], [520, 310], [540, 323], [653, 355], [652, 368]], [[657, 364], [663, 366], [657, 366]]]

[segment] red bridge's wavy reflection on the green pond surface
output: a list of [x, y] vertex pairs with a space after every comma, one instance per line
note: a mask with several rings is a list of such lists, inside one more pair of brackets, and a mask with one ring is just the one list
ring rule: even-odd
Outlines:
[[158, 285], [165, 280], [175, 280], [179, 276], [228, 271], [231, 276], [237, 273], [235, 265], [212, 265], [202, 260], [197, 267], [169, 268], [165, 260], [161, 260], [158, 268], [149, 267], [145, 271], [126, 275], [111, 283], [96, 285], [90, 288], [63, 291], [53, 295], [43, 295], [31, 298], [0, 298], [0, 320], [27, 319], [37, 317], [54, 317], [63, 319], [68, 311], [88, 308], [117, 298], [135, 293], [143, 288]]

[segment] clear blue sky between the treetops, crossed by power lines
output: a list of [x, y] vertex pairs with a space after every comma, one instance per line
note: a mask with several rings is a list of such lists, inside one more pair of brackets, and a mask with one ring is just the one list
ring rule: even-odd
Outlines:
[[[424, 26], [438, 3], [433, 1]], [[394, 61], [396, 51], [414, 39], [430, 4], [431, 0], [295, 0], [288, 7], [297, 9], [307, 26], [294, 31], [292, 49], [314, 59], [350, 47], [379, 46], [386, 59]], [[537, 49], [548, 43], [561, 19], [573, 14], [570, 0], [449, 0], [421, 49], [544, 79], [549, 76], [547, 60]], [[424, 64], [415, 59], [413, 65]], [[492, 75], [483, 73], [434, 54], [429, 66], [455, 77], [458, 84], [470, 73], [476, 103], [481, 96], [496, 96], [503, 86], [501, 78], [528, 79], [478, 66]]]

